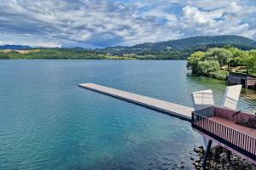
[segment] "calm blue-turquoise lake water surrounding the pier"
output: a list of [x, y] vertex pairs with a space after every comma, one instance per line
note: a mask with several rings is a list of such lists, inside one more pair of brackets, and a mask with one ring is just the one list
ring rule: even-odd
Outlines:
[[[193, 169], [189, 158], [202, 139], [189, 122], [77, 86], [94, 82], [188, 106], [192, 91], [212, 88], [219, 104], [224, 82], [187, 76], [185, 66], [1, 60], [0, 169]], [[256, 101], [242, 97], [239, 109], [253, 112]]]

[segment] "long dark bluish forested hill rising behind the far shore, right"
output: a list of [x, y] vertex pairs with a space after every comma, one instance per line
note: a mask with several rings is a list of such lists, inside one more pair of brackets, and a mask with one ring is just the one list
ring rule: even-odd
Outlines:
[[[182, 59], [186, 59], [189, 54], [202, 50], [206, 51], [208, 48], [223, 48], [232, 46], [241, 49], [256, 48], [256, 42], [247, 37], [241, 36], [201, 36], [188, 37], [178, 40], [171, 40], [167, 42], [141, 43], [131, 47], [110, 47], [104, 48], [106, 53], [114, 55], [137, 54], [137, 55], [169, 55], [183, 54]], [[177, 56], [173, 59], [177, 59]]]

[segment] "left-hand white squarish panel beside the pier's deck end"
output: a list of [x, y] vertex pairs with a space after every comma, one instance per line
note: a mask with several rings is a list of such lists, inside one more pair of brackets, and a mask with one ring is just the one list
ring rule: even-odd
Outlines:
[[203, 90], [191, 94], [195, 111], [214, 105], [212, 90]]

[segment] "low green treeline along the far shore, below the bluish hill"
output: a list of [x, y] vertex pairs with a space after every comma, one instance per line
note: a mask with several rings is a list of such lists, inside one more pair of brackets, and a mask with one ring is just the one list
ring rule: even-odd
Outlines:
[[[0, 59], [158, 59], [186, 60], [196, 51], [205, 52], [209, 48], [237, 47], [236, 44], [201, 45], [181, 50], [145, 50], [140, 52], [127, 51], [119, 54], [110, 53], [106, 49], [84, 48], [30, 48], [0, 49]], [[253, 49], [239, 46], [242, 49]]]

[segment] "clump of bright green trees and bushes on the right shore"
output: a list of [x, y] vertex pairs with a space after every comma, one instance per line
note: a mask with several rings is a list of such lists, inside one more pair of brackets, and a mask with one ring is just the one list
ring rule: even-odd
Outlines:
[[196, 51], [187, 59], [187, 69], [193, 75], [227, 80], [229, 72], [256, 76], [256, 50], [239, 48], [209, 48]]

